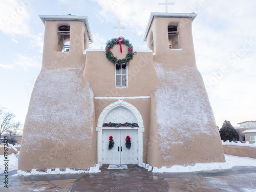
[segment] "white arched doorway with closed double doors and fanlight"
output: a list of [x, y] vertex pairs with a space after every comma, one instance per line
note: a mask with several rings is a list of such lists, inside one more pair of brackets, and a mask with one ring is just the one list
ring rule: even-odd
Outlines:
[[[132, 126], [105, 126], [103, 123], [138, 123], [139, 127]], [[97, 125], [98, 164], [139, 164], [143, 155], [142, 117], [137, 108], [129, 102], [118, 100], [109, 104], [101, 112]], [[114, 147], [109, 150], [109, 137], [113, 136]], [[132, 146], [125, 147], [126, 136], [131, 137]]]

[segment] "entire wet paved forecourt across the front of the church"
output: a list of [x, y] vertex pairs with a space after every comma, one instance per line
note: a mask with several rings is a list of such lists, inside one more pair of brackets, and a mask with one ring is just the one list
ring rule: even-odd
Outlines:
[[4, 187], [3, 174], [0, 174], [0, 191], [256, 191], [256, 167], [238, 166], [207, 172], [163, 174], [147, 172], [137, 165], [128, 165], [128, 170], [106, 168], [107, 165], [103, 165], [101, 172], [96, 174], [9, 175], [8, 188]]

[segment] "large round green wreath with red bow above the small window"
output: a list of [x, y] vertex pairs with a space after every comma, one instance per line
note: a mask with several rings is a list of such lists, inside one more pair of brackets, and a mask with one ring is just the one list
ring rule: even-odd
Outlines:
[[[120, 45], [121, 53], [122, 53], [122, 45], [121, 44], [124, 44], [128, 47], [128, 53], [126, 54], [126, 57], [123, 59], [117, 59], [111, 51], [111, 49], [117, 44]], [[132, 44], [130, 44], [130, 41], [125, 39], [124, 37], [118, 37], [118, 38], [113, 38], [111, 40], [108, 40], [106, 42], [105, 52], [106, 52], [106, 58], [108, 58], [110, 61], [117, 63], [117, 64], [127, 63], [128, 61], [133, 59], [133, 55], [134, 55]]]

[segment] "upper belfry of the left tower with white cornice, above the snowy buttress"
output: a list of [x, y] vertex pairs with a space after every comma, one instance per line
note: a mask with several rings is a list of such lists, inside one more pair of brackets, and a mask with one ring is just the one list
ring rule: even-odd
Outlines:
[[42, 69], [78, 67], [93, 41], [87, 16], [39, 15], [45, 24]]

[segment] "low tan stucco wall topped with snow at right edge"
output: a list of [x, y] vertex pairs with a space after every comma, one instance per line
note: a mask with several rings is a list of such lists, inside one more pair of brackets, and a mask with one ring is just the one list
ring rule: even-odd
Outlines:
[[223, 150], [227, 155], [256, 158], [256, 147], [223, 145]]

